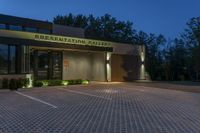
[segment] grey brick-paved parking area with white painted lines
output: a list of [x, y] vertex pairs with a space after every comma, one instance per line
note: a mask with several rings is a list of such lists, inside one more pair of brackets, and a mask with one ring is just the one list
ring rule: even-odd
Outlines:
[[128, 83], [0, 92], [0, 133], [200, 133], [200, 94]]

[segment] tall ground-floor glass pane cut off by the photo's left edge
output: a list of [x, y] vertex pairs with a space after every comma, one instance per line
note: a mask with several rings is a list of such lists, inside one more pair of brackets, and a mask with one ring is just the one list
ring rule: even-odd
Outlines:
[[0, 74], [8, 73], [8, 45], [0, 44]]

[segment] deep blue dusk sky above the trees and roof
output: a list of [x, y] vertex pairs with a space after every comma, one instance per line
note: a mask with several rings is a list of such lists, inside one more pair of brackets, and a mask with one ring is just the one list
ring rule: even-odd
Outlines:
[[108, 13], [137, 30], [173, 38], [200, 16], [200, 0], [0, 0], [0, 13], [49, 21], [58, 14]]

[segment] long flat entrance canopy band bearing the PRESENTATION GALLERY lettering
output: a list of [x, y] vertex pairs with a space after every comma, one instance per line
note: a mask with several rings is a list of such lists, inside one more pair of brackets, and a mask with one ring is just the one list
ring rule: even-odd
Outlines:
[[4, 43], [8, 44], [28, 44], [41, 47], [83, 49], [92, 51], [113, 51], [112, 42], [51, 34], [0, 30], [0, 38]]

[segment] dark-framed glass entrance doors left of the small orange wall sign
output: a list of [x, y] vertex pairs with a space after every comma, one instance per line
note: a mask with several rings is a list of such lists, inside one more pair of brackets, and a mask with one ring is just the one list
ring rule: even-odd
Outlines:
[[62, 52], [32, 50], [30, 63], [35, 79], [62, 79]]

